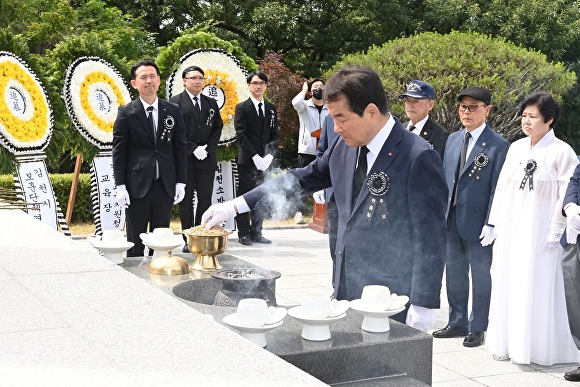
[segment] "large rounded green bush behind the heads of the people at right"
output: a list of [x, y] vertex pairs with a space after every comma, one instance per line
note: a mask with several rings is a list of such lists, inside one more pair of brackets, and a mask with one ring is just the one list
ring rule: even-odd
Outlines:
[[348, 64], [368, 65], [379, 73], [395, 115], [404, 114], [397, 97], [408, 82], [431, 83], [437, 91], [432, 115], [449, 131], [461, 127], [456, 99], [461, 90], [485, 87], [493, 95], [487, 121], [510, 141], [520, 136], [516, 113], [523, 98], [542, 89], [561, 99], [576, 81], [573, 72], [561, 63], [549, 63], [544, 54], [474, 32], [396, 39], [349, 55], [338, 65]]

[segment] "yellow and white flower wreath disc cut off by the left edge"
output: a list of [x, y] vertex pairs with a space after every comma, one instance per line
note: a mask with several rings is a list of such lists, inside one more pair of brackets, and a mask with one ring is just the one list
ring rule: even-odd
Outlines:
[[[22, 102], [22, 105], [19, 102]], [[50, 139], [51, 111], [42, 86], [23, 63], [0, 53], [0, 134], [11, 152], [42, 150]]]

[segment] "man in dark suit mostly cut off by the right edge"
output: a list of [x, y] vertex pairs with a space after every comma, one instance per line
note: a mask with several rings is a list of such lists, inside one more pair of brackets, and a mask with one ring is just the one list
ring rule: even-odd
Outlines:
[[[574, 344], [580, 349], [580, 165], [574, 170], [566, 195], [562, 203], [562, 213], [566, 216], [566, 230], [560, 243], [564, 247], [562, 256], [562, 274], [564, 276], [564, 293], [568, 324]], [[580, 382], [580, 367], [566, 372], [564, 379]]]

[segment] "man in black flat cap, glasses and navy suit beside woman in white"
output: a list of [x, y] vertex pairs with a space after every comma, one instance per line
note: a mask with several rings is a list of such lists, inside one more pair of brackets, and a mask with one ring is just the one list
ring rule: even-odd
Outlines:
[[[449, 135], [443, 159], [449, 189], [445, 261], [449, 321], [433, 336], [465, 336], [464, 346], [478, 347], [487, 330], [491, 296], [495, 237], [493, 225], [487, 222], [509, 143], [485, 121], [491, 110], [487, 90], [468, 87], [457, 99], [463, 129]], [[468, 315], [470, 269], [472, 310]]]

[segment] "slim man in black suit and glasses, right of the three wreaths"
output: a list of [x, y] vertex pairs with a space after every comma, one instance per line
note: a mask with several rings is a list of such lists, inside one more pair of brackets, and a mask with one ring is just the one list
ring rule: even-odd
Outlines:
[[[246, 78], [250, 98], [236, 106], [234, 125], [238, 140], [238, 195], [251, 191], [264, 180], [264, 171], [270, 167], [278, 143], [278, 114], [276, 106], [264, 99], [268, 77], [254, 71]], [[251, 222], [250, 222], [251, 221]], [[236, 216], [240, 243], [272, 243], [262, 236], [264, 214], [245, 212]]]

